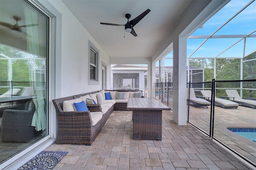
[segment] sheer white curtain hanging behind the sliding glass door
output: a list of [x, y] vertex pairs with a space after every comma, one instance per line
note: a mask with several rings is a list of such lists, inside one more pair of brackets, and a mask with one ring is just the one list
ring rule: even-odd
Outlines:
[[[24, 14], [26, 25], [36, 24], [38, 22], [37, 15], [38, 11], [27, 4], [24, 5]], [[27, 48], [29, 53], [32, 53], [35, 57], [40, 56], [39, 51], [39, 38], [38, 38], [38, 27], [26, 27], [27, 36]], [[32, 99], [36, 107], [36, 111], [33, 115], [31, 126], [34, 126], [37, 131], [46, 129], [46, 113], [45, 113], [45, 102], [44, 102], [44, 78], [42, 74], [35, 74], [37, 68], [34, 62], [34, 68], [31, 70], [30, 82], [33, 87]]]

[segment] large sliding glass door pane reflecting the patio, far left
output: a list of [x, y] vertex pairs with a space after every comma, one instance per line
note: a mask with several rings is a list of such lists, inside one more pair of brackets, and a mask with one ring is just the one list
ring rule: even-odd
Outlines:
[[48, 135], [49, 18], [0, 0], [0, 164]]

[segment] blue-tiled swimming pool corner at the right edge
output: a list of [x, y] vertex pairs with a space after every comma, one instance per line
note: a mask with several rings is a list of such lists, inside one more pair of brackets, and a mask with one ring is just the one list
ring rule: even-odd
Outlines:
[[228, 130], [256, 142], [256, 128], [228, 128]]

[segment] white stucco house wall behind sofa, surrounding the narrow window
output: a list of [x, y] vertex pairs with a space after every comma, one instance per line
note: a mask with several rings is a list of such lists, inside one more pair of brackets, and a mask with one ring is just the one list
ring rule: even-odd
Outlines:
[[[60, 95], [65, 97], [102, 88], [101, 61], [108, 65], [107, 76], [110, 75], [110, 59], [106, 52], [90, 36], [87, 30], [80, 24], [74, 15], [66, 8], [60, 0], [49, 0], [49, 2], [62, 15], [61, 24], [61, 62], [60, 70], [56, 70], [60, 77]], [[99, 50], [99, 85], [88, 85], [88, 40]], [[107, 88], [110, 87], [107, 77]]]

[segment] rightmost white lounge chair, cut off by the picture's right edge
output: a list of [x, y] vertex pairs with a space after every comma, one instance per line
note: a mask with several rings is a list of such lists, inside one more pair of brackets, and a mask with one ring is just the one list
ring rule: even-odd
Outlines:
[[226, 93], [230, 100], [233, 100], [236, 103], [241, 104], [242, 106], [251, 107], [252, 109], [256, 109], [256, 101], [242, 99], [236, 90], [226, 90]]

